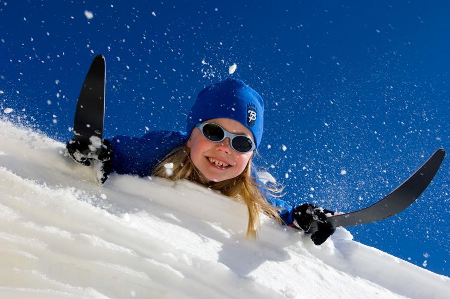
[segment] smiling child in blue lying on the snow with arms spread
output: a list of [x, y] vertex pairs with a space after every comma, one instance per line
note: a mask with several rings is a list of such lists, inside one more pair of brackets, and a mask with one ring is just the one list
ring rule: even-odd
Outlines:
[[[259, 94], [238, 79], [226, 79], [203, 89], [187, 119], [186, 132], [151, 131], [141, 138], [105, 139], [97, 163], [101, 183], [118, 174], [187, 179], [242, 201], [248, 210], [247, 237], [256, 237], [259, 212], [285, 225], [307, 231], [313, 220], [319, 230], [311, 235], [316, 245], [331, 236], [324, 210], [312, 204], [290, 206], [276, 199], [281, 189], [264, 186], [252, 164], [262, 137], [264, 105]], [[92, 158], [80, 155], [67, 143], [68, 154], [83, 165]]]

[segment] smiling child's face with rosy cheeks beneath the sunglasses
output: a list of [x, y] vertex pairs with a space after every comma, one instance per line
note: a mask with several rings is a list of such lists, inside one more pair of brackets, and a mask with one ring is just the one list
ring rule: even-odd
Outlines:
[[[208, 122], [217, 123], [230, 133], [244, 134], [253, 140], [250, 130], [236, 120], [215, 118]], [[240, 175], [253, 155], [253, 152], [242, 154], [234, 151], [230, 146], [230, 138], [225, 138], [222, 142], [210, 141], [202, 135], [197, 127], [192, 131], [187, 145], [191, 148], [191, 160], [194, 166], [208, 180], [214, 182], [232, 179]], [[225, 163], [225, 166], [216, 166], [215, 162]]]

